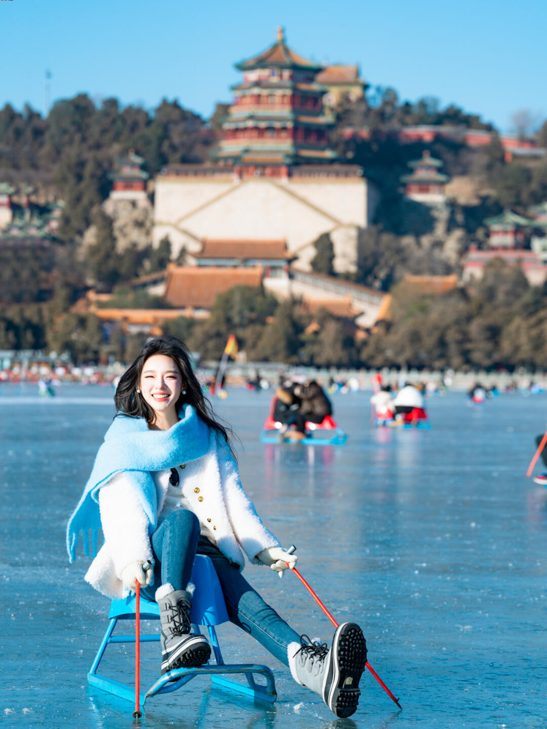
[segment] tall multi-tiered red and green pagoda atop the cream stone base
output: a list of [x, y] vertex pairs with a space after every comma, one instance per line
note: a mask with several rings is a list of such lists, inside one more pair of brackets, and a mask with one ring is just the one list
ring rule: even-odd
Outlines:
[[236, 63], [243, 82], [232, 87], [235, 101], [223, 124], [219, 163], [234, 165], [244, 176], [286, 177], [298, 164], [332, 163], [328, 148], [331, 120], [323, 110], [325, 89], [315, 82], [323, 67], [277, 41], [247, 61]]

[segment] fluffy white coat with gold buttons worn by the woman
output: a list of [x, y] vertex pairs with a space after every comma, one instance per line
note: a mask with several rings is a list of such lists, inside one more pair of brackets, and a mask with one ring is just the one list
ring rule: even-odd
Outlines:
[[[253, 564], [261, 564], [256, 559], [259, 552], [280, 546], [243, 491], [237, 463], [228, 445], [219, 444], [212, 429], [207, 453], [188, 461], [178, 472], [192, 511], [200, 523], [207, 523], [210, 529], [216, 527], [213, 533], [219, 550], [240, 569], [245, 564], [243, 552]], [[153, 472], [152, 477], [157, 491], [157, 513], [160, 514], [170, 469]], [[127, 594], [120, 580], [122, 569], [138, 560], [154, 561], [149, 539], [150, 523], [124, 472], [114, 475], [101, 488], [99, 506], [105, 542], [91, 563], [85, 580], [104, 595], [121, 598]]]

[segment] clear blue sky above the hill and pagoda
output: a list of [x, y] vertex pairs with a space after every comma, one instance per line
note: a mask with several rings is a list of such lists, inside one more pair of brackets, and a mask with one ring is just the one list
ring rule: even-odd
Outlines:
[[0, 106], [44, 110], [79, 92], [153, 108], [166, 97], [208, 116], [229, 101], [233, 64], [286, 28], [307, 58], [359, 63], [372, 85], [436, 96], [500, 130], [547, 117], [545, 0], [12, 0], [0, 2]]

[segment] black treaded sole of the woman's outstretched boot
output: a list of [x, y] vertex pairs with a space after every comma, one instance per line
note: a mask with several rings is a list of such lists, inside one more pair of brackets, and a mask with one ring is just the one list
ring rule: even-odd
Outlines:
[[366, 640], [356, 623], [339, 625], [331, 648], [331, 665], [323, 685], [323, 700], [337, 717], [355, 714], [361, 691], [359, 681], [365, 670]]

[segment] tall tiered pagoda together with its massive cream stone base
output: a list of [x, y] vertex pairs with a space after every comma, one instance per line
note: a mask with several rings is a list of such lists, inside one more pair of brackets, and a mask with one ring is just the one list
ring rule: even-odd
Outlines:
[[379, 194], [328, 146], [325, 87], [315, 80], [322, 67], [291, 50], [279, 30], [272, 46], [236, 68], [243, 80], [211, 162], [168, 165], [154, 181], [154, 245], [168, 236], [174, 258], [184, 248], [202, 261], [205, 240], [283, 240], [309, 270], [314, 241], [328, 233], [334, 270], [355, 272], [358, 229], [371, 224]]

